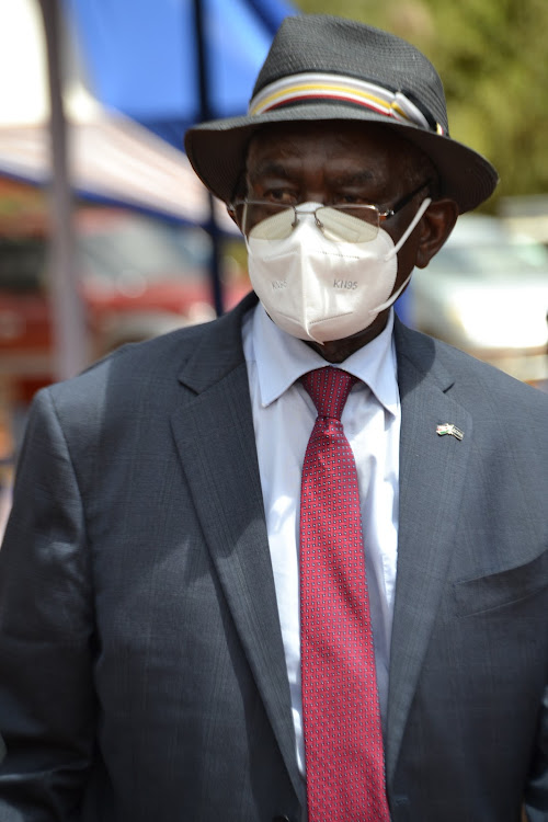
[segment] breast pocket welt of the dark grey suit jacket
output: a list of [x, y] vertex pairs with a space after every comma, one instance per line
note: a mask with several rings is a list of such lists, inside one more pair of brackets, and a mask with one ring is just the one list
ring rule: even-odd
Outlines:
[[535, 596], [548, 589], [548, 550], [530, 562], [455, 583], [458, 616], [472, 616]]

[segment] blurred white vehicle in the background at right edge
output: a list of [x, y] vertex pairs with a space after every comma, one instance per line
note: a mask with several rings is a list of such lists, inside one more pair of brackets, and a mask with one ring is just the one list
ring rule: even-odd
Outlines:
[[494, 217], [464, 215], [414, 272], [411, 322], [543, 387], [548, 380], [548, 251]]

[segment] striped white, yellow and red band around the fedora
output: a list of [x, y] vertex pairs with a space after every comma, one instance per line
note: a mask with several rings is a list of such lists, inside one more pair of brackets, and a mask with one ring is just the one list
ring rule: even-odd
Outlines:
[[403, 92], [343, 75], [306, 72], [275, 80], [251, 100], [249, 114], [253, 116], [299, 103], [328, 101], [370, 109], [400, 123], [412, 123], [443, 134], [443, 127], [438, 123], [431, 125]]

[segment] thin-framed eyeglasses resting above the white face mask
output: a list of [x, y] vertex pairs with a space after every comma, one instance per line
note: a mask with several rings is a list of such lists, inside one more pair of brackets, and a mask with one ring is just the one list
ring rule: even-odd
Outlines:
[[376, 205], [341, 204], [318, 206], [302, 210], [299, 205], [285, 205], [263, 199], [238, 199], [229, 206], [246, 237], [259, 240], [285, 240], [297, 227], [299, 217], [313, 214], [316, 225], [332, 242], [369, 242], [374, 240], [384, 220], [393, 217], [410, 203], [419, 192], [430, 185], [421, 183], [410, 194], [399, 199], [391, 208], [381, 212]]

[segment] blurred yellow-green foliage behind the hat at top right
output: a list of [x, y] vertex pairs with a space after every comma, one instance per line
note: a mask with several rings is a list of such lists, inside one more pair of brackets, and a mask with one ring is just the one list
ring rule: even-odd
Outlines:
[[491, 160], [496, 197], [548, 192], [546, 0], [296, 0], [393, 32], [442, 76], [450, 133]]

